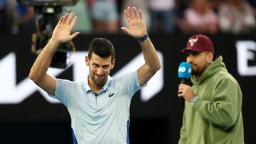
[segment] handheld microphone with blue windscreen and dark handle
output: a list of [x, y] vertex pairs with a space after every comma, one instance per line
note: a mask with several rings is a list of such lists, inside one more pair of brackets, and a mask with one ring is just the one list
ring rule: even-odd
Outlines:
[[[181, 62], [178, 67], [178, 78], [181, 79], [181, 84], [185, 84], [186, 79], [191, 76], [191, 64], [188, 62]], [[181, 106], [184, 106], [184, 99], [181, 99]]]

